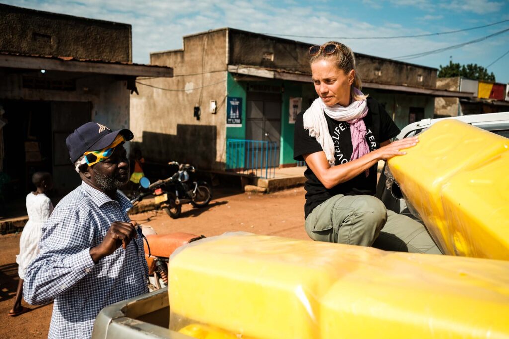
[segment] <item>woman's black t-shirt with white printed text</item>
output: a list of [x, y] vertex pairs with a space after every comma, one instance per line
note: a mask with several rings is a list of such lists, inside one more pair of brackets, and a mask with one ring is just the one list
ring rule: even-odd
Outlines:
[[[375, 99], [367, 98], [367, 115], [363, 118], [366, 125], [366, 142], [370, 152], [380, 148], [380, 143], [398, 135], [400, 129], [394, 124], [382, 105]], [[294, 136], [294, 159], [304, 160], [303, 154], [323, 151], [316, 138], [309, 136], [309, 131], [304, 129], [302, 116], [304, 112], [297, 115], [295, 121]], [[324, 114], [325, 115], [325, 114]], [[350, 161], [352, 156], [352, 136], [348, 122], [335, 121], [325, 115], [329, 134], [334, 142], [335, 164], [339, 165]], [[344, 195], [375, 195], [377, 184], [377, 165], [371, 166], [369, 176], [361, 173], [357, 177], [338, 184], [331, 189], [326, 189], [318, 180], [315, 174], [309, 169], [304, 172], [307, 181], [304, 185], [306, 190], [306, 203], [304, 205], [305, 217], [315, 207], [336, 194]]]

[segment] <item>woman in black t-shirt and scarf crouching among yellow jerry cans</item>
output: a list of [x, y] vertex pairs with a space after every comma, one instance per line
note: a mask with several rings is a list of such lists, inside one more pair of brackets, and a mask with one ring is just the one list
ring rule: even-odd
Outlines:
[[398, 135], [382, 105], [361, 92], [352, 50], [330, 41], [309, 48], [317, 98], [297, 116], [294, 158], [304, 160], [307, 235], [320, 241], [441, 254], [426, 228], [374, 195], [377, 163], [405, 154], [417, 137]]

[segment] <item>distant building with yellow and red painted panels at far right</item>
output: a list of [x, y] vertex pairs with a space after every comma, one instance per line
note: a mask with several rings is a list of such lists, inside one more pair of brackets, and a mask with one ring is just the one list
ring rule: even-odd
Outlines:
[[436, 98], [437, 117], [505, 112], [509, 110], [509, 84], [467, 79], [460, 76], [438, 78], [437, 88], [469, 93], [469, 97]]

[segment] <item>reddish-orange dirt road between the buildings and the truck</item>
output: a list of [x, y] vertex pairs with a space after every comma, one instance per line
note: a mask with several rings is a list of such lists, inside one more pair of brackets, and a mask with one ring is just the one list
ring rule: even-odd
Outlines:
[[[214, 195], [217, 198], [204, 209], [184, 206], [182, 216], [176, 220], [161, 211], [140, 213], [131, 218], [150, 225], [159, 234], [188, 232], [213, 236], [227, 231], [246, 231], [308, 239], [304, 231], [303, 188], [268, 195], [229, 191], [218, 191]], [[44, 338], [48, 335], [52, 304], [30, 306], [31, 312], [18, 317], [7, 315], [18, 284], [19, 237], [19, 234], [0, 236], [0, 338]]]

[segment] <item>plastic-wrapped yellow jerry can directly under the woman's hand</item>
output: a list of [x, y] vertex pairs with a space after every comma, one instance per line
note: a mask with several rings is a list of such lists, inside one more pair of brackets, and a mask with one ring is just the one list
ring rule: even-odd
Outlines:
[[406, 149], [407, 154], [387, 161], [405, 198], [447, 255], [456, 252], [447, 241], [450, 230], [441, 201], [443, 185], [455, 174], [472, 170], [508, 148], [505, 137], [447, 119], [419, 134], [419, 142]]

